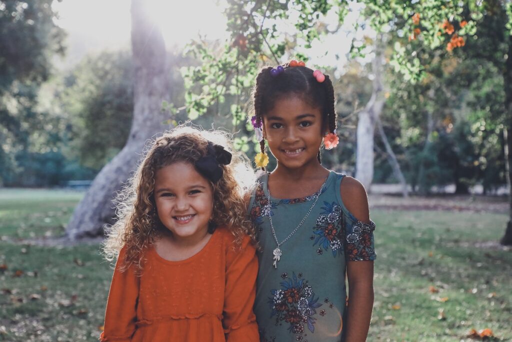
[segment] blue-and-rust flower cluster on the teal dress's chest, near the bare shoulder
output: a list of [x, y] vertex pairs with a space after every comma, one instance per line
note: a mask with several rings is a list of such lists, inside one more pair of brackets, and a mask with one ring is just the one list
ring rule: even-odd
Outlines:
[[340, 218], [342, 208], [335, 202], [324, 202], [322, 212], [316, 219], [316, 226], [313, 228], [315, 240], [313, 246], [318, 245], [316, 253], [322, 255], [323, 251], [332, 251], [333, 256], [343, 254], [344, 231]]

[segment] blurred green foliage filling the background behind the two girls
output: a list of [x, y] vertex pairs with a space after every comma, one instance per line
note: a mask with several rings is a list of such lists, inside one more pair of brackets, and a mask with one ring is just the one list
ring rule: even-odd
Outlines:
[[[0, 185], [7, 187], [52, 187], [67, 180], [93, 179], [120, 151], [130, 130], [131, 53], [105, 51], [84, 57], [70, 70], [56, 70], [52, 58], [65, 53], [65, 32], [52, 21], [56, 13], [51, 2], [2, 2], [0, 10]], [[250, 17], [241, 15], [247, 13], [242, 2], [230, 5], [233, 40], [228, 50], [219, 42], [195, 41], [185, 51], [169, 53], [173, 93], [163, 107], [176, 123], [193, 119], [207, 129], [230, 131], [236, 147], [252, 159], [257, 144], [246, 117], [255, 70], [262, 63], [276, 64], [276, 55], [293, 52], [307, 59], [306, 50], [298, 45], [305, 42], [308, 48], [308, 42], [321, 39], [327, 27], [311, 21], [315, 13], [327, 13], [330, 7], [328, 2], [302, 2], [303, 16], [296, 23], [300, 30], [283, 41], [273, 36], [272, 26], [266, 28], [254, 17], [282, 19], [285, 3], [273, 3], [271, 13], [255, 5]], [[460, 10], [461, 17], [470, 14], [468, 7]], [[456, 192], [466, 193], [479, 184], [492, 193], [506, 183], [502, 130], [507, 44], [502, 28], [508, 17], [503, 11], [484, 14], [477, 36], [467, 37], [463, 47], [450, 54], [441, 48], [416, 56], [426, 66], [417, 82], [403, 81], [404, 71], [395, 67], [399, 57], [392, 57], [395, 64], [389, 59], [386, 64], [381, 121], [416, 192], [455, 184]], [[268, 42], [260, 42], [265, 34]], [[396, 55], [395, 43], [401, 39], [391, 36], [384, 40], [387, 58]], [[266, 53], [247, 48], [267, 44]], [[353, 44], [352, 57], [365, 48]], [[357, 111], [371, 96], [372, 72], [365, 59], [350, 61], [343, 70], [325, 68], [333, 75], [342, 148], [325, 152], [323, 162], [354, 174]], [[385, 147], [376, 139], [374, 183], [395, 182]]]

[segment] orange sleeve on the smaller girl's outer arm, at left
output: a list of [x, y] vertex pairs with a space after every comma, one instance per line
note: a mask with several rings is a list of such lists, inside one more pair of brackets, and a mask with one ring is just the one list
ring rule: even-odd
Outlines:
[[125, 252], [123, 247], [114, 269], [106, 304], [104, 331], [100, 336], [102, 342], [129, 342], [135, 332], [140, 277], [132, 267], [124, 272], [119, 270]]

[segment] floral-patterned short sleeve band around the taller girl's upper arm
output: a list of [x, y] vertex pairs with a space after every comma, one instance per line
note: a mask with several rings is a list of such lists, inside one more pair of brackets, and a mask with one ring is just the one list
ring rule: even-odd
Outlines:
[[374, 260], [375, 250], [373, 231], [375, 223], [364, 223], [357, 220], [354, 224], [344, 224], [346, 232], [345, 253], [348, 261]]

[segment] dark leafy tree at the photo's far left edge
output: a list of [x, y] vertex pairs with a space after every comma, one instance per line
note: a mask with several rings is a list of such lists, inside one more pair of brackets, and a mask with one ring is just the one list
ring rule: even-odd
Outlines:
[[51, 75], [54, 54], [65, 51], [52, 1], [0, 1], [0, 184], [23, 170], [16, 156], [47, 121], [35, 110], [39, 86]]

